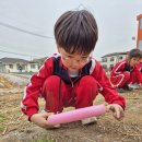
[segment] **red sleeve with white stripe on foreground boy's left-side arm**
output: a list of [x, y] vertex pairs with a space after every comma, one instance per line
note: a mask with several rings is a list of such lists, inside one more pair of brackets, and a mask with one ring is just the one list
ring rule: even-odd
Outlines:
[[45, 80], [51, 75], [51, 58], [47, 59], [44, 66], [39, 69], [38, 73], [35, 73], [31, 78], [28, 85], [25, 87], [21, 107], [22, 111], [28, 116], [28, 120], [32, 115], [38, 113], [38, 96]]

